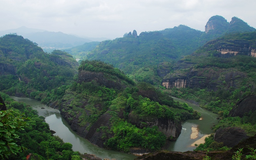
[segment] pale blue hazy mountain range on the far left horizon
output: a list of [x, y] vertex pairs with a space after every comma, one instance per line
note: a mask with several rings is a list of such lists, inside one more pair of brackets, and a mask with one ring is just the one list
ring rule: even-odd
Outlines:
[[77, 35], [65, 34], [62, 32], [50, 32], [43, 29], [27, 28], [25, 26], [0, 31], [0, 36], [9, 33], [17, 33], [17, 35], [32, 40], [45, 52], [52, 52], [54, 49], [71, 48], [92, 41], [109, 40], [108, 38], [82, 38]]

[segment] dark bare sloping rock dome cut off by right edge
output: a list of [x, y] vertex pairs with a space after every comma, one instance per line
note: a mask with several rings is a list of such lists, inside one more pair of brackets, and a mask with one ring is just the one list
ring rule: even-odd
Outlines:
[[229, 112], [231, 117], [243, 117], [245, 113], [256, 110], [256, 95], [250, 95], [239, 101]]

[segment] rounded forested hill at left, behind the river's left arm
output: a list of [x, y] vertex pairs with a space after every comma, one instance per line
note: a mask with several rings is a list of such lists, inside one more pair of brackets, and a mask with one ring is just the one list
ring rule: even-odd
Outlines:
[[44, 53], [36, 43], [15, 34], [0, 38], [0, 57], [0, 89], [13, 95], [51, 91], [69, 83], [78, 72], [71, 55], [56, 50]]

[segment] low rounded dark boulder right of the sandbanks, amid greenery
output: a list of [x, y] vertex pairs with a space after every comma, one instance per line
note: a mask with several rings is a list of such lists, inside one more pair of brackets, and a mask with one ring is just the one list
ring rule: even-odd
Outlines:
[[249, 138], [246, 136], [245, 130], [238, 127], [220, 128], [216, 131], [214, 140], [223, 142], [227, 147], [234, 147], [244, 139]]

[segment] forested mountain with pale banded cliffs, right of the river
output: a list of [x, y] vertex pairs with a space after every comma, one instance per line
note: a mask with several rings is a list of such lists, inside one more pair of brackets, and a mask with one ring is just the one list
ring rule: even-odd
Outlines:
[[[171, 95], [199, 102], [220, 116], [212, 128], [215, 136], [197, 150], [234, 147], [256, 134], [255, 51], [256, 32], [227, 34], [179, 60], [163, 78]], [[232, 143], [228, 133], [234, 136]], [[223, 144], [216, 147], [217, 142]]]

